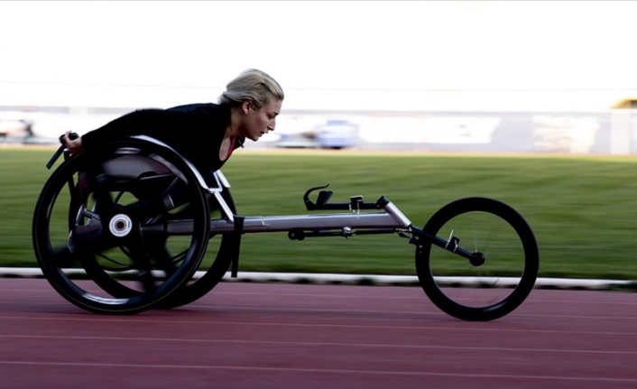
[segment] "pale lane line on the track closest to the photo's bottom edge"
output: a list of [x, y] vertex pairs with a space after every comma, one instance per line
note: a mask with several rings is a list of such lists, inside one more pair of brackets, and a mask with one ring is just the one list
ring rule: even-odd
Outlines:
[[36, 362], [36, 361], [2, 361], [0, 365], [8, 366], [73, 366], [73, 367], [132, 367], [153, 369], [191, 369], [191, 370], [237, 370], [254, 372], [286, 372], [286, 373], [322, 373], [337, 375], [399, 375], [399, 376], [445, 376], [463, 378], [489, 378], [489, 379], [523, 379], [533, 381], [583, 381], [605, 383], [637, 383], [637, 378], [615, 377], [586, 377], [569, 375], [495, 375], [495, 374], [466, 374], [466, 373], [440, 373], [440, 372], [408, 372], [408, 371], [383, 371], [383, 370], [350, 370], [350, 369], [319, 369], [302, 367], [262, 367], [262, 366], [206, 366], [206, 365], [160, 365], [160, 364], [114, 364], [114, 363], [87, 363], [87, 362]]

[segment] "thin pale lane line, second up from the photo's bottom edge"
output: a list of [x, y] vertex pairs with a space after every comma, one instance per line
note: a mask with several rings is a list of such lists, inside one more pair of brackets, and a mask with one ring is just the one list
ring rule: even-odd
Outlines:
[[567, 348], [524, 348], [524, 347], [475, 347], [475, 346], [435, 346], [435, 345], [398, 345], [373, 343], [345, 343], [345, 342], [302, 342], [286, 340], [241, 340], [241, 339], [208, 339], [208, 338], [131, 338], [131, 337], [75, 337], [75, 336], [46, 336], [46, 335], [0, 335], [0, 338], [24, 339], [65, 339], [65, 340], [106, 340], [125, 342], [174, 342], [174, 343], [215, 343], [237, 345], [274, 345], [298, 347], [369, 347], [369, 348], [409, 348], [409, 349], [438, 349], [438, 350], [467, 350], [467, 351], [503, 351], [552, 354], [603, 354], [634, 356], [637, 351], [621, 350], [583, 350]]

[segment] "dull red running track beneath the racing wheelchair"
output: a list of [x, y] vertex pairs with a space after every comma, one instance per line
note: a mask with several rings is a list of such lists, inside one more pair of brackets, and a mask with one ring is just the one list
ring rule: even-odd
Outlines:
[[536, 290], [466, 322], [418, 287], [222, 282], [99, 316], [0, 280], [2, 388], [636, 388], [637, 293]]

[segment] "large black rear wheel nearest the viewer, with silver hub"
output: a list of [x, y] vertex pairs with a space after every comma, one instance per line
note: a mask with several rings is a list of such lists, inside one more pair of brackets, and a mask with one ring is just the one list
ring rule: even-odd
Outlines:
[[[181, 203], [169, 204], [176, 189]], [[184, 206], [193, 210], [189, 230], [158, 234]], [[189, 281], [208, 231], [208, 200], [188, 163], [130, 139], [62, 163], [38, 199], [32, 237], [44, 276], [65, 299], [97, 313], [138, 313]]]

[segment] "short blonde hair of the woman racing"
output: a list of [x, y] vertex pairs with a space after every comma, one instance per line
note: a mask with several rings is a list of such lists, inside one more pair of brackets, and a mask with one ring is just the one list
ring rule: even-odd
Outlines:
[[258, 69], [246, 69], [226, 86], [226, 91], [219, 96], [220, 104], [232, 107], [251, 101], [254, 109], [260, 109], [270, 100], [283, 99], [283, 89], [276, 80]]

